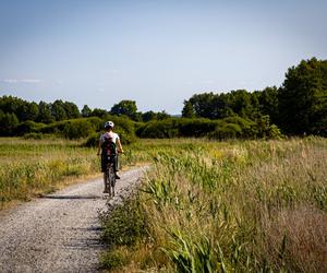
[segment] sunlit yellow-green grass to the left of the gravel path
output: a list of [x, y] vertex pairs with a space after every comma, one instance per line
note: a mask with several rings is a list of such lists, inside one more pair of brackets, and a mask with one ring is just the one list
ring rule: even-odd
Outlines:
[[0, 138], [0, 207], [99, 171], [95, 149], [77, 141]]

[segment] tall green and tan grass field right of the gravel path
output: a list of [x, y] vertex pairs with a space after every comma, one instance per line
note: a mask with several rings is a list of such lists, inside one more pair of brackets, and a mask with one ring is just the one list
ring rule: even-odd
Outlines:
[[131, 151], [154, 168], [135, 200], [102, 218], [107, 269], [327, 272], [326, 139], [153, 140]]

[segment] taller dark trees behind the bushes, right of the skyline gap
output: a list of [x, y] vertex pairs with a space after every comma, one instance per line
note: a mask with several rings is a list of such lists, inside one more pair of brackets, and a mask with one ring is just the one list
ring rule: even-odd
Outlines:
[[284, 134], [327, 135], [327, 60], [312, 58], [291, 67], [279, 88], [195, 94], [184, 100], [182, 116], [213, 120], [266, 116]]

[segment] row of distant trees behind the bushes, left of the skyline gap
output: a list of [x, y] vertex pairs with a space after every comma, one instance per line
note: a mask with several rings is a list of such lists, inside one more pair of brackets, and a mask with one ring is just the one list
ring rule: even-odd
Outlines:
[[90, 109], [87, 105], [84, 105], [80, 111], [74, 103], [61, 99], [57, 99], [53, 103], [40, 102], [37, 104], [14, 96], [2, 96], [0, 97], [0, 135], [15, 134], [17, 126], [25, 121], [50, 124], [77, 118], [98, 117], [102, 119], [108, 115], [124, 116], [134, 121], [144, 122], [170, 117], [166, 111], [137, 111], [136, 102], [128, 99], [114, 104], [110, 110]]

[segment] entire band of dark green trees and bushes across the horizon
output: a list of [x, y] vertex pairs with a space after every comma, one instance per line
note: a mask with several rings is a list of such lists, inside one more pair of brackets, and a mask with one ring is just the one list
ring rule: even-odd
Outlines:
[[[51, 128], [63, 130], [64, 122], [61, 121], [92, 117], [100, 120], [123, 117], [133, 121], [135, 132], [144, 138], [274, 138], [280, 135], [280, 131], [288, 135], [326, 136], [327, 61], [312, 58], [291, 67], [280, 87], [271, 86], [252, 93], [237, 90], [195, 94], [184, 100], [182, 119], [172, 118], [166, 111], [141, 112], [136, 102], [128, 99], [114, 104], [110, 110], [90, 109], [87, 105], [80, 110], [75, 104], [61, 99], [37, 104], [13, 96], [0, 97], [0, 135], [15, 135], [22, 129], [26, 133], [51, 132]], [[56, 122], [59, 123], [52, 126]], [[78, 122], [69, 124], [82, 128], [83, 122]], [[66, 126], [65, 131], [71, 132], [72, 129]]]

